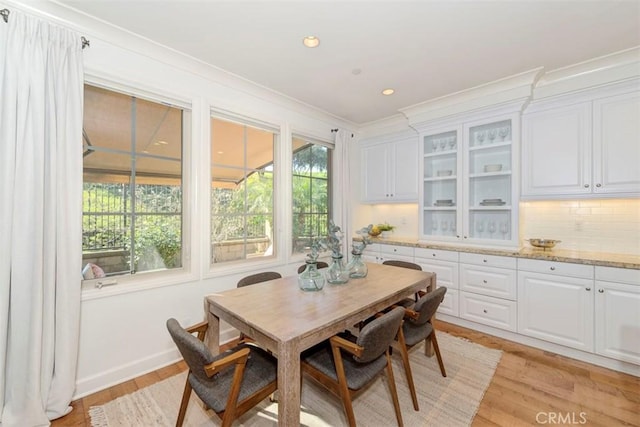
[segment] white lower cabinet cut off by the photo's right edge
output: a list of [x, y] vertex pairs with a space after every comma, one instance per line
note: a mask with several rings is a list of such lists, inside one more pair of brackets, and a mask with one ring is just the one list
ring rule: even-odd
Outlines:
[[596, 267], [595, 351], [640, 365], [640, 271]]

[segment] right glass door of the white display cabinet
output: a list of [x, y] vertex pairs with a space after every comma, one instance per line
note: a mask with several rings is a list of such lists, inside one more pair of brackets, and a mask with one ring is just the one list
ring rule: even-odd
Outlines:
[[465, 181], [470, 239], [510, 241], [512, 236], [511, 120], [466, 126]]

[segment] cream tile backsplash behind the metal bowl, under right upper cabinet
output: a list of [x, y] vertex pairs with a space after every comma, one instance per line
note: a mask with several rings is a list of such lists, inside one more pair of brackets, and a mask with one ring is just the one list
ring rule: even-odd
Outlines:
[[640, 199], [521, 202], [520, 237], [562, 240], [562, 249], [639, 255]]

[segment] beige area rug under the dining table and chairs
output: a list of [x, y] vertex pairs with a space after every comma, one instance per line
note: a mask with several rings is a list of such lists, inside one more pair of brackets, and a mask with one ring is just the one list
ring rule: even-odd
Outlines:
[[[428, 358], [424, 355], [424, 343], [410, 352], [420, 411], [413, 409], [400, 355], [394, 352], [394, 376], [406, 426], [470, 425], [502, 356], [500, 350], [488, 349], [446, 333], [438, 334], [438, 343], [447, 370], [446, 378], [440, 374], [435, 356]], [[90, 408], [91, 425], [174, 426], [185, 375], [186, 372], [105, 405]], [[385, 375], [381, 375], [356, 396], [353, 406], [359, 426], [396, 425]], [[277, 424], [277, 414], [277, 404], [266, 399], [244, 414], [234, 426], [274, 426]], [[301, 425], [324, 427], [346, 424], [340, 400], [305, 378]], [[220, 420], [212, 411], [205, 411], [200, 399], [192, 393], [184, 425], [219, 426]]]

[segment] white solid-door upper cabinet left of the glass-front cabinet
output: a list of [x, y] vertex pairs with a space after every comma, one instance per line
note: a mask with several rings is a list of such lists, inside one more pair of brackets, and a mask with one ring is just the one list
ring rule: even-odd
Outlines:
[[363, 140], [362, 201], [418, 201], [418, 138], [406, 133]]

